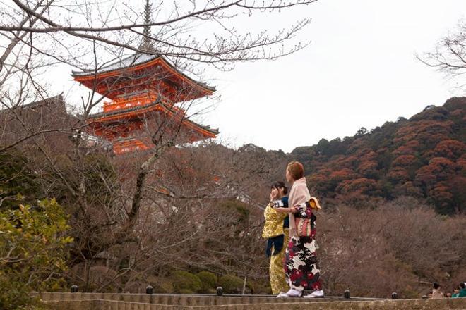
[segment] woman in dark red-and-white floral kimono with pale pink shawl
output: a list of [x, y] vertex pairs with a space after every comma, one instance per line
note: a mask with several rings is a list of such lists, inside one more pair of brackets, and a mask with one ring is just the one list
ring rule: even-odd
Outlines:
[[[289, 213], [289, 243], [285, 252], [285, 273], [289, 290], [277, 297], [301, 297], [304, 290], [311, 290], [305, 298], [321, 298], [323, 290], [320, 280], [316, 256], [316, 216], [313, 210], [321, 209], [315, 197], [311, 197], [304, 177], [304, 168], [298, 161], [292, 161], [287, 166], [287, 181], [292, 184], [289, 192], [289, 207], [277, 208], [278, 212]], [[308, 218], [310, 233], [299, 236], [297, 221]]]

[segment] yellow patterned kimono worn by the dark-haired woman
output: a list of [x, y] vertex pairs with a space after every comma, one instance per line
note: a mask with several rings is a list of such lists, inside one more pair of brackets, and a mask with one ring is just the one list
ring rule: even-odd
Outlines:
[[271, 240], [283, 235], [282, 242], [285, 242], [285, 246], [281, 247], [280, 252], [275, 253], [275, 244], [272, 245], [270, 251], [270, 286], [272, 287], [273, 294], [279, 294], [280, 292], [287, 292], [289, 290], [284, 269], [285, 250], [287, 248], [289, 235], [288, 228], [284, 228], [283, 223], [287, 216], [287, 213], [278, 213], [270, 204], [268, 204], [264, 211], [265, 224], [262, 237], [268, 238], [269, 244], [273, 244], [273, 242], [270, 242]]

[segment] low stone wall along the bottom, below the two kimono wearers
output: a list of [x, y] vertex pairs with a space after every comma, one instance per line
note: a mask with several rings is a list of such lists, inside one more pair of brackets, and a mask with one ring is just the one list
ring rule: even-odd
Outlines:
[[465, 309], [466, 299], [304, 299], [181, 294], [43, 293], [56, 310], [446, 310]]

